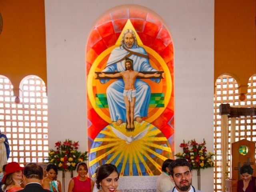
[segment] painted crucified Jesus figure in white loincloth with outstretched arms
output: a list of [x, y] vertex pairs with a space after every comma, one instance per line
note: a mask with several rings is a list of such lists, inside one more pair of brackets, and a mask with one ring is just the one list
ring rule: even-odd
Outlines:
[[138, 71], [133, 70], [133, 64], [132, 61], [126, 60], [125, 62], [125, 71], [118, 72], [116, 74], [105, 74], [101, 72], [99, 74], [100, 77], [122, 77], [124, 80], [124, 103], [126, 107], [126, 130], [132, 131], [134, 130], [134, 105], [135, 105], [135, 95], [136, 95], [136, 89], [134, 86], [134, 82], [136, 80], [136, 77], [144, 77], [144, 78], [150, 78], [150, 77], [159, 77], [161, 74], [158, 74], [158, 72], [154, 74], [142, 74]]

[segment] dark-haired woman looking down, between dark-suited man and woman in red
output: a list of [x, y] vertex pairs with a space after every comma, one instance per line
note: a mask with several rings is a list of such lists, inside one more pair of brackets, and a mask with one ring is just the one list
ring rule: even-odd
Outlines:
[[61, 183], [57, 180], [58, 168], [55, 164], [48, 164], [47, 177], [42, 181], [42, 187], [52, 192], [61, 192]]

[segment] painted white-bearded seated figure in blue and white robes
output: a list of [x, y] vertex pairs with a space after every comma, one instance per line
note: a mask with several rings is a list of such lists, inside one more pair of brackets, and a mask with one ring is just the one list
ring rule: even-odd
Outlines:
[[[138, 46], [136, 35], [131, 29], [124, 31], [120, 47], [112, 50], [106, 68], [102, 72], [122, 72], [125, 71], [125, 59], [133, 60], [134, 71], [157, 71], [152, 68], [149, 63], [149, 58], [146, 50]], [[159, 83], [160, 79], [152, 80]], [[101, 83], [108, 82], [108, 79], [101, 79]], [[134, 119], [137, 122], [142, 122], [142, 117], [148, 115], [148, 104], [150, 102], [151, 89], [150, 86], [140, 80], [135, 81], [136, 102], [134, 108]], [[119, 126], [126, 122], [126, 106], [123, 99], [124, 81], [118, 79], [107, 88], [107, 100], [110, 111], [110, 117], [116, 125]]]

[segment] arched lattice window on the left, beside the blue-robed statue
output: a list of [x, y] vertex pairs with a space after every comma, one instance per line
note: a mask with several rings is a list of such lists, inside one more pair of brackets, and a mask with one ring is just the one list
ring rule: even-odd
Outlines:
[[0, 129], [10, 144], [8, 162], [46, 162], [48, 100], [44, 82], [29, 76], [21, 83], [20, 103], [14, 102], [10, 80], [0, 76]]

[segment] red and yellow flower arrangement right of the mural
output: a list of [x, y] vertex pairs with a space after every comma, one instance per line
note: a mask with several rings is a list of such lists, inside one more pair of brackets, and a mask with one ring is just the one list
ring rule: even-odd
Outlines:
[[[212, 161], [213, 153], [209, 152], [207, 154], [206, 142], [203, 140], [201, 144], [198, 144], [196, 140], [188, 141], [180, 144], [183, 149], [183, 153], [177, 153], [175, 156], [179, 158], [184, 158], [188, 160], [191, 164], [192, 169], [200, 170], [208, 167], [214, 167], [214, 162]], [[191, 147], [189, 149], [189, 147]]]

